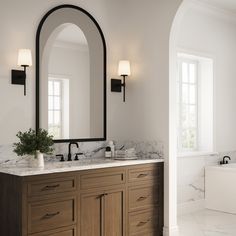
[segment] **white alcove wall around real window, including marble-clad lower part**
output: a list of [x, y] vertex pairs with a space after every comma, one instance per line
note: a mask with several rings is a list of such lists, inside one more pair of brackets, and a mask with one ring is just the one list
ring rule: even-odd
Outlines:
[[[192, 2], [192, 3], [191, 3]], [[178, 49], [214, 60], [213, 148], [219, 152], [178, 157], [178, 204], [181, 212], [203, 207], [204, 167], [236, 150], [236, 21], [195, 1], [186, 4], [176, 34]], [[191, 209], [187, 209], [187, 208]]]

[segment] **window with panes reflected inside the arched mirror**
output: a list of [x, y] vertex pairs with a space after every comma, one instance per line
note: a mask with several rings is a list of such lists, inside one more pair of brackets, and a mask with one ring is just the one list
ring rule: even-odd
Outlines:
[[62, 137], [62, 81], [54, 78], [48, 80], [48, 131]]

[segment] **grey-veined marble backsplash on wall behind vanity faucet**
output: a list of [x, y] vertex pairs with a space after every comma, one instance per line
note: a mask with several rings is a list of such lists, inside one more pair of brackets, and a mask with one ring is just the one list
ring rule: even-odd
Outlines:
[[[157, 159], [163, 158], [163, 143], [161, 141], [115, 141], [115, 148], [124, 149], [135, 148], [139, 159]], [[104, 157], [107, 142], [80, 142], [79, 150], [72, 147], [72, 153], [82, 152], [82, 158]], [[54, 153], [52, 156], [46, 156], [47, 161], [58, 161], [56, 154], [63, 154], [65, 158], [68, 154], [68, 143], [54, 144]], [[28, 161], [29, 157], [18, 157], [13, 152], [12, 145], [0, 145], [0, 164], [4, 163], [22, 163]]]

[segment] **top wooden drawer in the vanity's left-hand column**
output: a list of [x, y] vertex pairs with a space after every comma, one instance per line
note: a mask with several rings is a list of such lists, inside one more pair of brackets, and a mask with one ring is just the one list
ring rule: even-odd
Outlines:
[[28, 183], [28, 196], [42, 196], [53, 193], [74, 191], [76, 177], [57, 178], [46, 181], [33, 181]]

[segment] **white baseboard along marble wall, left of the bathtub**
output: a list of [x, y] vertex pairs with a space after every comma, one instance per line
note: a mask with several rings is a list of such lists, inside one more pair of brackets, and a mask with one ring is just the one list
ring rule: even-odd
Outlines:
[[185, 215], [205, 209], [205, 199], [178, 204], [178, 215]]

